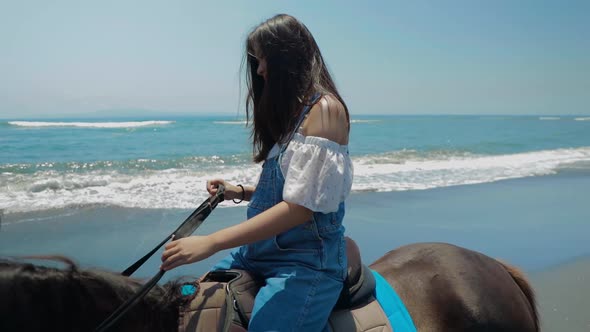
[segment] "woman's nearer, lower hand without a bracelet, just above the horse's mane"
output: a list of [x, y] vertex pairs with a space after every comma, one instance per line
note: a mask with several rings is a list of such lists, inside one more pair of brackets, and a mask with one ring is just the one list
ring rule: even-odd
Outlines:
[[165, 248], [160, 266], [164, 271], [201, 261], [217, 252], [209, 236], [185, 237], [168, 243]]

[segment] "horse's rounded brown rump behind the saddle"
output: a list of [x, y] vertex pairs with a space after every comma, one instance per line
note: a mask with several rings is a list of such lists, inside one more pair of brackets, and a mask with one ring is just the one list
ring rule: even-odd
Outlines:
[[538, 331], [522, 274], [444, 243], [411, 244], [370, 265], [397, 291], [418, 331]]

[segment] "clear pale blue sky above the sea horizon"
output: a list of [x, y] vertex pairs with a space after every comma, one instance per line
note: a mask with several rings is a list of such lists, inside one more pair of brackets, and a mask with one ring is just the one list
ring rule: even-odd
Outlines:
[[3, 1], [0, 118], [237, 114], [247, 33], [314, 34], [354, 114], [590, 114], [590, 1]]

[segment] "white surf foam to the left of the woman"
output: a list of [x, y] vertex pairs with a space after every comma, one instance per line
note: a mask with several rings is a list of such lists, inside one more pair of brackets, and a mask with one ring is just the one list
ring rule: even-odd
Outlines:
[[0, 175], [0, 209], [12, 213], [95, 204], [194, 208], [208, 196], [207, 180], [223, 177], [233, 183], [254, 183], [260, 166], [221, 166], [217, 171], [168, 169], [138, 174], [112, 170], [82, 174], [43, 171], [33, 175]]

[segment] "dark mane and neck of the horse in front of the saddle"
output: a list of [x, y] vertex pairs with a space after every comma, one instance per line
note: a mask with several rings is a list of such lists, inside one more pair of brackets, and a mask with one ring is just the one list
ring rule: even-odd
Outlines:
[[[35, 256], [65, 268], [0, 259], [0, 331], [94, 330], [141, 286], [138, 279], [109, 271], [80, 269], [63, 256]], [[114, 328], [176, 331], [183, 303], [178, 282], [154, 287]]]

